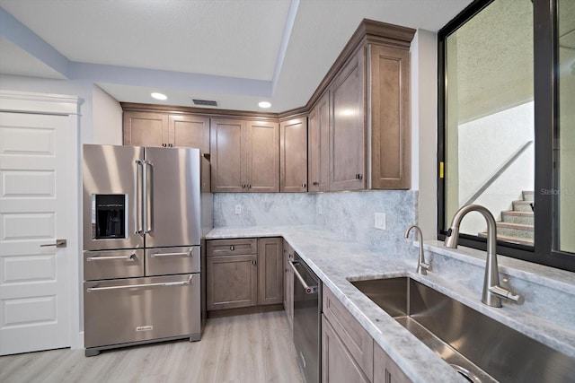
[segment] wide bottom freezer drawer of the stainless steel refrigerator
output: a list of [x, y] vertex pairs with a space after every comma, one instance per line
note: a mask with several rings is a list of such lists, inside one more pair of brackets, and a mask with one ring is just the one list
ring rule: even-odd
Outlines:
[[84, 283], [86, 349], [199, 333], [199, 274]]

